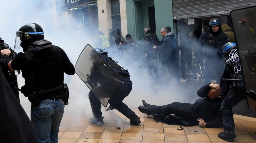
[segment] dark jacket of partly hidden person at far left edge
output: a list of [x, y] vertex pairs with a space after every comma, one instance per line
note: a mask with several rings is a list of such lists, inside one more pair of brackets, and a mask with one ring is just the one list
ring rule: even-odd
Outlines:
[[[6, 44], [4, 40], [2, 40], [0, 37], [0, 50], [4, 50], [8, 48], [9, 48], [9, 45]], [[9, 50], [11, 51], [10, 56], [13, 57], [16, 54], [16, 52], [14, 52], [11, 48], [9, 48]], [[5, 78], [8, 81], [9, 85], [10, 86], [17, 85], [17, 75], [15, 74], [15, 71], [11, 71], [8, 68], [5, 68], [1, 61], [2, 61], [2, 56], [0, 55], [0, 65], [2, 68], [2, 72], [4, 73]]]

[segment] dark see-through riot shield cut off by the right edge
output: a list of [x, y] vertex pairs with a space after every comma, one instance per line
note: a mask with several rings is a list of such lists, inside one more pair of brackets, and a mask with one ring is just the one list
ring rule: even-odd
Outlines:
[[250, 110], [256, 112], [256, 7], [230, 12]]

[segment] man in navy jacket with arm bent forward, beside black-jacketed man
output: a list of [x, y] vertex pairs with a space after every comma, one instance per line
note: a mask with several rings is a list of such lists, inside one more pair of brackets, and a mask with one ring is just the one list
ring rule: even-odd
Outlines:
[[164, 80], [164, 74], [169, 71], [170, 80], [180, 84], [179, 71], [177, 68], [177, 42], [174, 33], [169, 32], [166, 27], [161, 29], [163, 39], [160, 46], [154, 45], [153, 48], [159, 52], [159, 61], [161, 62], [159, 74], [162, 76], [160, 81]]

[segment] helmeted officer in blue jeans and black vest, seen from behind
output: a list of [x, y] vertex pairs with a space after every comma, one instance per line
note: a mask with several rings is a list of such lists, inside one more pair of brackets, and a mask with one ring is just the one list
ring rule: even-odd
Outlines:
[[64, 72], [74, 75], [75, 68], [60, 47], [44, 39], [43, 29], [36, 23], [27, 23], [17, 31], [15, 49], [20, 46], [24, 53], [19, 52], [12, 60], [10, 50], [1, 50], [3, 65], [22, 71], [25, 85], [21, 93], [32, 103], [31, 122], [39, 142], [57, 143], [67, 101], [64, 97], [68, 98]]

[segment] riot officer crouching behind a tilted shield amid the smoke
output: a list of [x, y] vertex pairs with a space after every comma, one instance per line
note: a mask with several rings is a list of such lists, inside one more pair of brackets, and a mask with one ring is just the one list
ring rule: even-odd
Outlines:
[[[120, 113], [122, 113], [124, 116], [126, 116], [128, 119], [130, 119], [130, 122], [134, 125], [139, 125], [141, 123], [140, 118], [134, 113], [133, 110], [131, 110], [125, 103], [122, 102], [122, 100], [129, 95], [129, 93], [132, 90], [132, 81], [130, 80], [130, 75], [128, 70], [124, 70], [122, 66], [120, 66], [116, 61], [114, 61], [111, 57], [108, 57], [108, 52], [103, 52], [100, 48], [94, 49], [96, 52], [99, 53], [99, 55], [111, 66], [111, 68], [119, 74], [119, 76], [122, 79], [122, 82], [120, 85], [116, 88], [116, 90], [113, 91], [113, 94], [111, 95], [109, 99], [110, 103], [110, 109], [116, 109]], [[97, 63], [95, 64], [97, 66]], [[97, 67], [96, 70], [100, 70], [100, 68], [103, 67]], [[113, 71], [113, 72], [114, 72]], [[106, 71], [107, 72], [107, 71]], [[91, 73], [91, 77], [100, 77], [102, 74], [97, 74], [97, 71], [94, 71]], [[113, 78], [113, 77], [111, 77]], [[100, 78], [99, 78], [100, 79]], [[103, 83], [104, 81], [97, 81], [95, 83], [90, 83], [91, 86], [97, 89], [97, 83], [100, 84], [107, 84]], [[110, 83], [109, 83], [110, 84]], [[105, 89], [105, 90], [111, 90], [111, 89]], [[101, 94], [104, 94], [103, 92]], [[104, 95], [101, 95], [101, 97], [104, 97]], [[101, 103], [100, 100], [93, 94], [92, 91], [89, 92], [89, 100], [91, 103], [91, 108], [93, 112], [92, 118], [90, 118], [90, 122], [97, 125], [104, 125], [102, 112], [100, 110]]]

